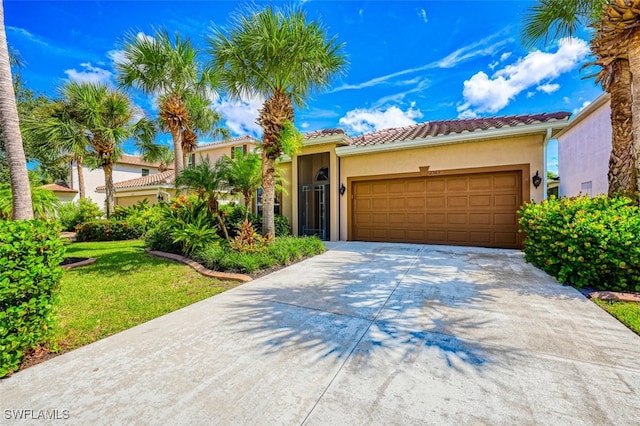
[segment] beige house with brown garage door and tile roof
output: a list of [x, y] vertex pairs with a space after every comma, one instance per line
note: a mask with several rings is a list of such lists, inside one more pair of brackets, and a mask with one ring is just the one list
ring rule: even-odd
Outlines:
[[568, 112], [305, 136], [280, 162], [296, 235], [517, 248], [517, 210], [541, 201], [548, 141]]

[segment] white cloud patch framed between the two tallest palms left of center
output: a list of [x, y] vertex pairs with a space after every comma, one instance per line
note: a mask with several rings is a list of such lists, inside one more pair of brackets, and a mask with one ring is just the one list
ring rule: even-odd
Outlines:
[[214, 107], [224, 117], [225, 123], [232, 133], [238, 136], [251, 135], [260, 137], [262, 128], [256, 123], [264, 98], [254, 96], [241, 101], [229, 101], [219, 98]]

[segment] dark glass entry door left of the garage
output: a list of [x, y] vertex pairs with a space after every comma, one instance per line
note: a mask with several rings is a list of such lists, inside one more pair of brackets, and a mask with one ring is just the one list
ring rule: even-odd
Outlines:
[[327, 241], [329, 235], [329, 184], [300, 185], [300, 235], [316, 235]]

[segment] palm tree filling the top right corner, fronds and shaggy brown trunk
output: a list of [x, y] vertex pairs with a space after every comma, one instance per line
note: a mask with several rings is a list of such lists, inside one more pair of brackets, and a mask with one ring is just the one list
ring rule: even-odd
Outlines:
[[594, 76], [611, 94], [609, 194], [633, 196], [640, 191], [640, 0], [541, 0], [525, 23], [529, 45], [573, 36], [583, 26], [595, 29], [592, 65], [600, 71]]

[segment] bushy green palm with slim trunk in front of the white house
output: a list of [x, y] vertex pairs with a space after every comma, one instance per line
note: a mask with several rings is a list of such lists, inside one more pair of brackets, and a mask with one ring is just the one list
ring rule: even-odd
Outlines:
[[141, 151], [157, 150], [158, 145], [152, 142], [155, 126], [145, 117], [134, 120], [137, 111], [129, 98], [104, 84], [72, 81], [59, 92], [64, 114], [50, 115], [40, 123], [38, 131], [43, 135], [68, 134], [66, 137], [73, 143], [78, 134], [84, 136], [87, 151], [104, 172], [105, 210], [110, 216], [115, 208], [113, 166], [122, 154], [122, 144], [133, 138]]

